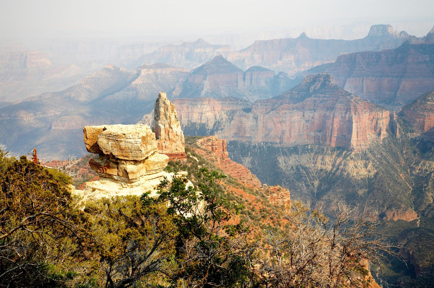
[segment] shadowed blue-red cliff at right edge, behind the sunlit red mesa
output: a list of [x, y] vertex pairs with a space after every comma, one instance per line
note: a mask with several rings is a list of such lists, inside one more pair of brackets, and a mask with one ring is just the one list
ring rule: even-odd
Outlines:
[[333, 74], [336, 84], [363, 99], [399, 110], [434, 90], [434, 44], [404, 43], [397, 49], [341, 55], [305, 74]]

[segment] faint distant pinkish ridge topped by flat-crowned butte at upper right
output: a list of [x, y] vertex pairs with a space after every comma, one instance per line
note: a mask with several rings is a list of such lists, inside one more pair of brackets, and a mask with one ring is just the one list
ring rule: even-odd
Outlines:
[[231, 52], [227, 59], [242, 69], [259, 65], [294, 75], [335, 61], [343, 53], [393, 49], [408, 37], [405, 32], [394, 32], [390, 25], [372, 26], [368, 36], [351, 41], [311, 39], [302, 33], [296, 39], [255, 41], [246, 49]]

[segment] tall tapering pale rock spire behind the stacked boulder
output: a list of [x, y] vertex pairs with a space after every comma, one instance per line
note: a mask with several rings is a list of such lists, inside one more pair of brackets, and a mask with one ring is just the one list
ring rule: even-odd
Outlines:
[[158, 153], [168, 155], [169, 159], [187, 158], [184, 133], [176, 116], [175, 105], [164, 92], [160, 92], [155, 101], [152, 132], [157, 139]]

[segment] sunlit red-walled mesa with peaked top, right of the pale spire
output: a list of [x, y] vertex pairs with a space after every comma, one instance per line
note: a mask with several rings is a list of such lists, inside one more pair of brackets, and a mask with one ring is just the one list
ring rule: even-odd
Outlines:
[[[178, 101], [184, 102], [177, 103], [184, 131], [189, 131], [189, 126], [206, 125], [219, 138], [248, 143], [360, 149], [383, 139], [390, 121], [389, 111], [342, 90], [330, 74], [306, 77], [285, 94], [256, 101], [248, 108], [226, 105], [226, 117], [196, 100]], [[230, 99], [226, 101], [230, 103]]]

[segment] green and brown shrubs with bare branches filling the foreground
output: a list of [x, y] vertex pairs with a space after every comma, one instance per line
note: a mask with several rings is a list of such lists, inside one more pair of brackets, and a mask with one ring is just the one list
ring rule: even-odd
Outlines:
[[1, 150], [0, 286], [375, 287], [368, 260], [397, 255], [366, 207], [339, 202], [325, 217], [294, 201], [270, 226], [243, 213], [225, 175], [189, 163], [196, 189], [174, 178], [158, 198], [80, 210], [68, 176]]

